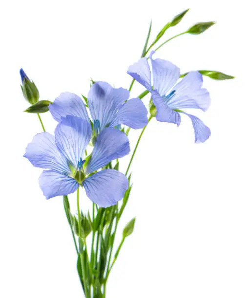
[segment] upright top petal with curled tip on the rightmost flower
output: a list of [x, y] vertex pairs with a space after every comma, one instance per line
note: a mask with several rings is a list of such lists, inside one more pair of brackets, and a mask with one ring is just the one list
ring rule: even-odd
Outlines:
[[180, 69], [173, 63], [163, 59], [153, 59], [150, 54], [152, 75], [153, 75], [153, 87], [158, 93], [165, 95], [177, 82], [180, 77]]

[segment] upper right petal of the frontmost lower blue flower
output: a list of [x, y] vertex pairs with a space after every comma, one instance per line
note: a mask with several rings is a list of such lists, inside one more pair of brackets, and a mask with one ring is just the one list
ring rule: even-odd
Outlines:
[[113, 159], [123, 157], [129, 152], [129, 140], [126, 134], [115, 128], [105, 128], [96, 138], [86, 172], [92, 173]]

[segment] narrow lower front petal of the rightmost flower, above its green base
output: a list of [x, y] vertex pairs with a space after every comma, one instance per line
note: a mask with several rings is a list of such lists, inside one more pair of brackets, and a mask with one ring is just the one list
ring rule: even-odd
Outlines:
[[154, 105], [157, 108], [156, 119], [160, 122], [175, 123], [177, 126], [181, 123], [181, 116], [178, 112], [171, 110], [166, 101], [160, 96], [157, 90], [151, 92], [151, 97]]

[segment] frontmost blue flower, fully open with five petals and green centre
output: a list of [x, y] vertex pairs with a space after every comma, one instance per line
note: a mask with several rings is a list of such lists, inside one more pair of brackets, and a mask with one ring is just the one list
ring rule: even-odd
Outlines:
[[61, 118], [55, 135], [38, 133], [28, 144], [24, 157], [33, 166], [45, 169], [39, 183], [46, 199], [68, 195], [79, 186], [101, 207], [115, 205], [123, 198], [128, 188], [126, 176], [114, 169], [97, 170], [129, 153], [127, 136], [114, 128], [102, 130], [84, 169], [83, 154], [91, 135], [88, 121], [68, 115]]

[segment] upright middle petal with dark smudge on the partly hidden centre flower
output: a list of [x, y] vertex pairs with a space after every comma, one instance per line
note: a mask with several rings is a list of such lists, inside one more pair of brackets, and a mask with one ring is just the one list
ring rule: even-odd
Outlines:
[[110, 124], [115, 113], [129, 98], [129, 91], [124, 88], [113, 88], [106, 82], [96, 82], [88, 93], [88, 106], [93, 122], [99, 120], [103, 130]]

